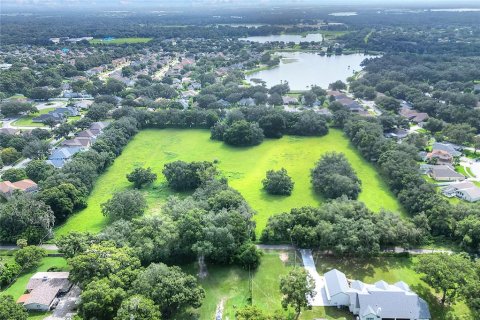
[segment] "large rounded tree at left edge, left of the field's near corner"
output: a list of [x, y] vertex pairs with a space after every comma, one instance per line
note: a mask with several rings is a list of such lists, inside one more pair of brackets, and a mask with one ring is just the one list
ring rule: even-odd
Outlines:
[[15, 243], [26, 239], [38, 243], [51, 235], [55, 216], [42, 201], [28, 195], [15, 195], [0, 205], [0, 241]]

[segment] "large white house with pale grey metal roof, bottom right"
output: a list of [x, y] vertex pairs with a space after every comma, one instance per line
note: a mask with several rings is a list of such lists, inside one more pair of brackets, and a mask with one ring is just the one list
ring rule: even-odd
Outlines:
[[336, 269], [325, 273], [324, 279], [329, 305], [348, 307], [359, 320], [431, 319], [428, 304], [403, 281], [393, 285], [382, 280], [374, 284], [349, 281]]

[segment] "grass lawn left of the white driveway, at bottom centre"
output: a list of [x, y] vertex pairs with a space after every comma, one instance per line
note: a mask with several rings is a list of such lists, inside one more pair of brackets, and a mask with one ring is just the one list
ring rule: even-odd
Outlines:
[[[288, 257], [288, 261], [282, 261], [281, 255]], [[264, 251], [262, 263], [259, 269], [252, 272], [252, 302], [266, 312], [273, 313], [282, 310], [280, 278], [293, 268], [294, 254], [280, 251]], [[297, 267], [301, 266], [301, 258], [297, 256]], [[223, 319], [235, 319], [235, 310], [249, 304], [249, 272], [238, 267], [228, 266], [207, 266], [209, 275], [200, 280], [205, 289], [206, 296], [202, 307], [198, 310], [200, 319], [213, 319], [217, 305], [224, 301]], [[196, 275], [197, 271], [193, 266], [186, 268], [186, 271]], [[293, 313], [293, 310], [289, 310]], [[310, 320], [314, 318], [326, 319], [349, 319], [349, 313], [336, 308], [316, 307], [312, 310], [302, 312], [300, 319]]]

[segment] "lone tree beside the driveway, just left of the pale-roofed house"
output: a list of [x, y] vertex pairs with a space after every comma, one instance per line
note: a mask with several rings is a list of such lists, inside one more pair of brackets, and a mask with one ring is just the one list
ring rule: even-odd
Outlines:
[[303, 268], [295, 268], [280, 279], [280, 291], [283, 294], [282, 307], [292, 306], [298, 319], [302, 308], [310, 309], [308, 297], [315, 295], [315, 281]]

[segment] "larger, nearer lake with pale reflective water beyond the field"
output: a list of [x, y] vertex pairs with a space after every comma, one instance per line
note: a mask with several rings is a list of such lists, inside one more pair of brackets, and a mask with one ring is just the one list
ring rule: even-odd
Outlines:
[[273, 69], [263, 70], [247, 76], [261, 79], [267, 87], [288, 81], [292, 90], [307, 90], [307, 86], [317, 85], [324, 89], [337, 80], [346, 81], [355, 71], [360, 71], [360, 63], [373, 56], [358, 54], [320, 56], [308, 52], [281, 52], [280, 65]]

